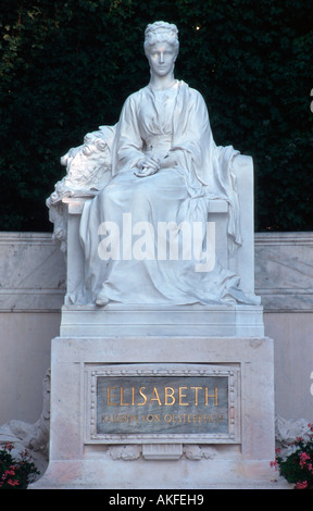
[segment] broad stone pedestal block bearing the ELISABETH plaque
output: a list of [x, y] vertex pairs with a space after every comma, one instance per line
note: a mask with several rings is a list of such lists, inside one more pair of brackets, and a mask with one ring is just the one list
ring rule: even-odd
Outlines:
[[54, 338], [33, 487], [275, 487], [273, 340], [187, 334]]

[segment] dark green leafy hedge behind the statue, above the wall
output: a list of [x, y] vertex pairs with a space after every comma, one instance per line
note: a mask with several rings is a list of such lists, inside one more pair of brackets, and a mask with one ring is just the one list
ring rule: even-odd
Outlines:
[[179, 28], [176, 76], [216, 142], [254, 159], [256, 229], [313, 229], [312, 0], [2, 0], [0, 229], [51, 229], [60, 157], [147, 84], [158, 20]]

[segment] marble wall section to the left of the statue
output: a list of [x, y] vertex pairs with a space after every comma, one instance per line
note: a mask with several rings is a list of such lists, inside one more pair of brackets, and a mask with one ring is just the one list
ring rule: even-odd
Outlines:
[[0, 233], [0, 425], [41, 413], [64, 292], [64, 254], [50, 234]]

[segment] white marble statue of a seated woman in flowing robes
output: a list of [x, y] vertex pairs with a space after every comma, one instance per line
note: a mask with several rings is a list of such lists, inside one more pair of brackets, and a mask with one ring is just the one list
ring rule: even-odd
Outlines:
[[150, 83], [125, 101], [112, 179], [85, 203], [85, 282], [74, 303], [249, 302], [214, 260], [208, 227], [209, 201], [226, 200], [229, 244], [240, 245], [230, 167], [238, 152], [216, 147], [202, 96], [174, 78], [177, 34], [164, 22], [146, 29]]

